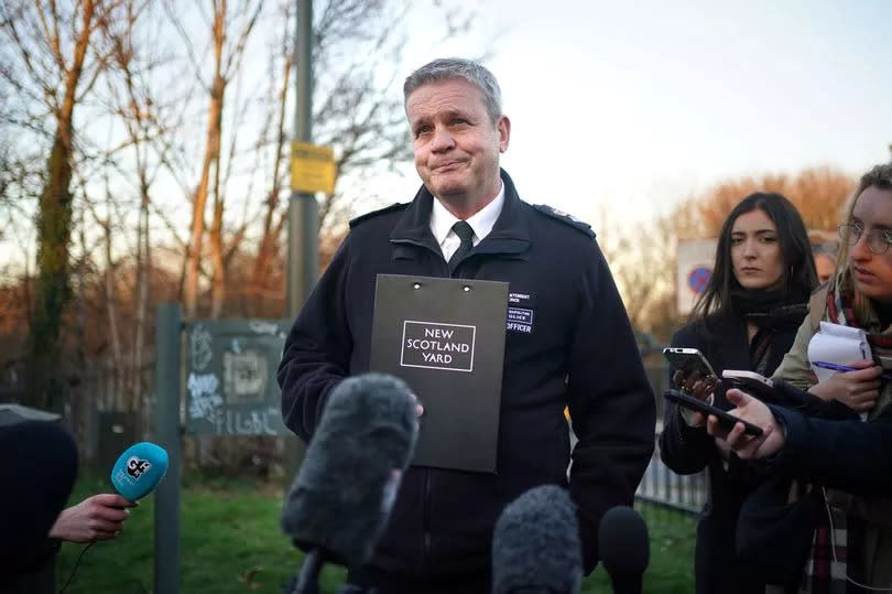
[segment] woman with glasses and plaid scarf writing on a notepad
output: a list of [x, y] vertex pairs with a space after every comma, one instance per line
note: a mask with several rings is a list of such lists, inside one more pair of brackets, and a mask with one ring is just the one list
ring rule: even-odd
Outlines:
[[[842, 247], [836, 273], [812, 296], [809, 315], [802, 323], [774, 377], [807, 388], [823, 399], [837, 399], [852, 410], [866, 412], [868, 422], [808, 421], [814, 426], [809, 425], [806, 431], [799, 428], [802, 423], [792, 424], [793, 417], [779, 411], [775, 417], [781, 424], [775, 423], [765, 438], [769, 434], [773, 434], [772, 441], [785, 438], [782, 426], [792, 431], [788, 436], [795, 439], [801, 439], [806, 431], [814, 444], [813, 457], [807, 451], [801, 452], [798, 464], [785, 465], [787, 472], [797, 471], [797, 478], [823, 482], [827, 487], [842, 487], [841, 490], [826, 488], [822, 492], [828, 507], [826, 514], [822, 510], [816, 518], [812, 561], [806, 564], [802, 591], [848, 592], [846, 582], [858, 582], [870, 586], [868, 590], [892, 592], [892, 493], [888, 486], [873, 490], [871, 495], [851, 479], [840, 485], [838, 480], [823, 480], [817, 472], [809, 476], [808, 471], [823, 468], [826, 474], [833, 473], [834, 467], [852, 469], [868, 463], [875, 465], [877, 473], [890, 472], [886, 453], [892, 449], [892, 442], [878, 439], [877, 430], [885, 429], [884, 423], [892, 423], [892, 407], [889, 406], [892, 382], [880, 377], [883, 369], [886, 374], [892, 370], [892, 163], [877, 165], [861, 177], [846, 206], [839, 236]], [[849, 361], [847, 366], [855, 370], [836, 372], [816, 384], [808, 359], [808, 343], [818, 332], [820, 321], [862, 328], [867, 333], [872, 359]], [[751, 408], [765, 409], [758, 401]], [[790, 419], [790, 424], [783, 422], [784, 417]], [[820, 446], [815, 444], [818, 441]], [[727, 445], [721, 440], [719, 442]], [[802, 440], [798, 444], [802, 449]], [[779, 447], [776, 441], [774, 445]], [[808, 449], [809, 445], [806, 442], [804, 446]], [[864, 446], [868, 451], [873, 447], [877, 455], [871, 460], [860, 460]], [[735, 444], [735, 449], [746, 450], [739, 444]], [[828, 451], [836, 457], [828, 455]], [[771, 453], [773, 451], [763, 450], [760, 455]], [[748, 450], [748, 454], [751, 455], [752, 450]], [[844, 554], [841, 551], [846, 548]], [[833, 573], [830, 568], [834, 568]], [[860, 587], [853, 587], [853, 591], [863, 592]]]

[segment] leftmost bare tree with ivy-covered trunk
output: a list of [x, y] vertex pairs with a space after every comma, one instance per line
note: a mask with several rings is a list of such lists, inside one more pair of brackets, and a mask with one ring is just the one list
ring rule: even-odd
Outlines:
[[[52, 122], [46, 177], [39, 201], [37, 287], [30, 333], [29, 392], [43, 408], [61, 404], [59, 338], [63, 312], [70, 298], [68, 250], [72, 240], [72, 165], [75, 109], [102, 71], [106, 56], [94, 33], [113, 19], [118, 2], [81, 0], [8, 1], [2, 6], [2, 34], [14, 52], [3, 69], [7, 82], [32, 99], [22, 121], [48, 117]], [[35, 128], [42, 128], [35, 125]]]

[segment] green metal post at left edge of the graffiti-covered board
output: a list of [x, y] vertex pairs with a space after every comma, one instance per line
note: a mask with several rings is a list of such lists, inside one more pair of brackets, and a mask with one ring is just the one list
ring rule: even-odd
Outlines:
[[180, 305], [162, 303], [155, 318], [155, 439], [167, 451], [167, 474], [155, 489], [153, 592], [180, 592]]

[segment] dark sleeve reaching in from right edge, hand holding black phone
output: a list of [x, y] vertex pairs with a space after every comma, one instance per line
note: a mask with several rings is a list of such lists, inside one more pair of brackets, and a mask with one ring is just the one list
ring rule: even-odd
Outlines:
[[786, 435], [773, 472], [855, 495], [892, 494], [892, 414], [864, 422], [771, 410]]

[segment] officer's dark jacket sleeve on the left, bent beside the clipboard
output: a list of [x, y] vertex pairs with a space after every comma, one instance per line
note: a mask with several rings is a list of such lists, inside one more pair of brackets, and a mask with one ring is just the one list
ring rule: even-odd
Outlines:
[[279, 364], [282, 418], [305, 442], [329, 392], [349, 375], [353, 348], [345, 306], [349, 244], [348, 235], [297, 315]]

